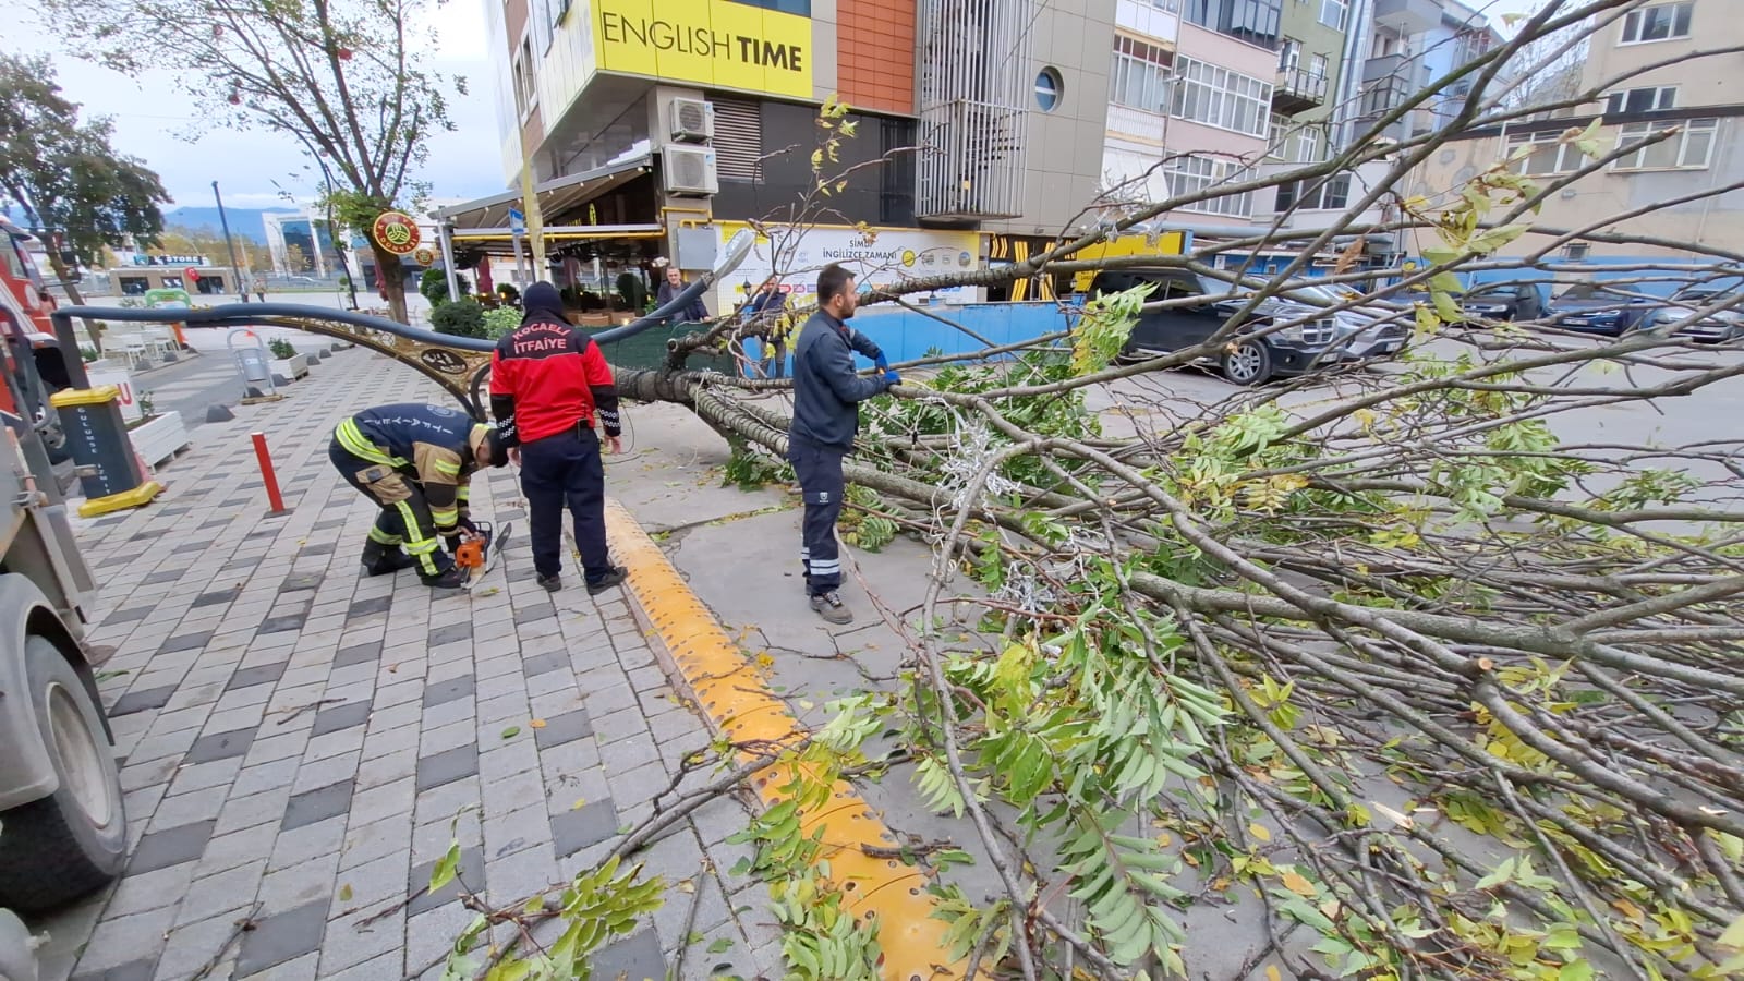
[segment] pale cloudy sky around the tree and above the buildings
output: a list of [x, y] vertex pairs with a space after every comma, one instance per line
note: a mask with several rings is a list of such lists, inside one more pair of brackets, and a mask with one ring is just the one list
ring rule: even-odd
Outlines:
[[[483, 197], [504, 189], [483, 2], [448, 0], [431, 12], [438, 31], [431, 66], [464, 75], [471, 93], [452, 101], [455, 131], [433, 138], [431, 159], [417, 175], [439, 199]], [[1524, 12], [1538, 2], [1467, 0], [1498, 21], [1505, 12]], [[176, 204], [213, 204], [215, 180], [225, 206], [232, 208], [284, 206], [284, 194], [298, 201], [314, 197], [316, 187], [303, 175], [303, 154], [291, 140], [202, 127], [183, 106], [185, 98], [167, 72], [136, 80], [77, 61], [56, 47], [35, 10], [21, 7], [14, 3], [7, 14], [21, 16], [23, 30], [0, 37], [0, 51], [52, 56], [68, 98], [82, 103], [85, 113], [113, 117], [117, 150], [155, 169]]]

